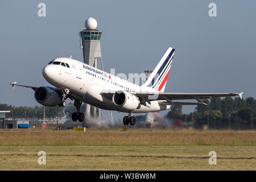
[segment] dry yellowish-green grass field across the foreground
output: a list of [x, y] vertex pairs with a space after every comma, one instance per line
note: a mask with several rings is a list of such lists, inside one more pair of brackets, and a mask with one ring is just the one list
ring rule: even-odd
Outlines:
[[[46, 165], [39, 165], [39, 151]], [[209, 151], [217, 164], [208, 163]], [[256, 131], [0, 130], [1, 170], [255, 170]]]

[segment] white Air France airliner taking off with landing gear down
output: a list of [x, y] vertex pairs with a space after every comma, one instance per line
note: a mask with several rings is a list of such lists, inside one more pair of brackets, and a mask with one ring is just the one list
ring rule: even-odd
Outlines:
[[[84, 121], [80, 113], [82, 102], [105, 110], [116, 110], [129, 113], [123, 117], [125, 125], [135, 125], [136, 118], [132, 113], [147, 113], [170, 109], [171, 105], [204, 104], [204, 98], [240, 96], [237, 93], [164, 93], [166, 81], [170, 72], [175, 49], [168, 48], [147, 81], [135, 85], [100, 69], [90, 67], [67, 57], [59, 57], [50, 61], [43, 68], [43, 77], [56, 88], [48, 86], [19, 85], [35, 90], [35, 100], [44, 106], [63, 106], [65, 100], [74, 101], [77, 112], [72, 114], [72, 120]], [[175, 100], [190, 100], [197, 102], [177, 102]]]

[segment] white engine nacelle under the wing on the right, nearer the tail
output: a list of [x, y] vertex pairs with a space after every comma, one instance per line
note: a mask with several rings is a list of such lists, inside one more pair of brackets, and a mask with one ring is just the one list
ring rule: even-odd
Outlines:
[[124, 110], [134, 110], [140, 106], [138, 97], [123, 90], [115, 92], [112, 100], [115, 106], [122, 107]]

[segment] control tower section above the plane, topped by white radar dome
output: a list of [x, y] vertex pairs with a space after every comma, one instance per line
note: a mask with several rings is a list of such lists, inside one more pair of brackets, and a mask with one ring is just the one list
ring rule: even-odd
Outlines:
[[97, 21], [92, 17], [86, 19], [85, 28], [85, 30], [79, 30], [80, 48], [82, 48], [84, 63], [99, 68], [101, 62], [103, 69], [100, 43], [102, 31], [96, 30]]

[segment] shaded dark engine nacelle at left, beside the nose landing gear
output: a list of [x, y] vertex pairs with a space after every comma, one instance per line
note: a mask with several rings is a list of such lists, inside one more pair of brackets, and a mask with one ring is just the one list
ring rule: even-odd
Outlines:
[[57, 106], [60, 96], [47, 86], [41, 86], [35, 90], [35, 100], [44, 106]]

